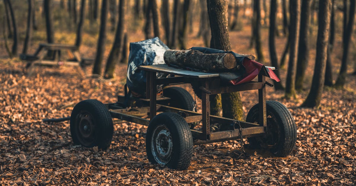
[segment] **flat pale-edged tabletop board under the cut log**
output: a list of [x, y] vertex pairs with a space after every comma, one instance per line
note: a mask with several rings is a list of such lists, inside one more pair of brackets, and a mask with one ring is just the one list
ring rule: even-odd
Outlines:
[[167, 64], [144, 65], [144, 66], [140, 66], [138, 68], [140, 68], [142, 70], [146, 70], [146, 71], [159, 72], [159, 73], [165, 73], [165, 74], [174, 74], [174, 75], [178, 75], [178, 76], [192, 77], [192, 78], [219, 77], [219, 74], [217, 74], [217, 73], [189, 71], [189, 70], [169, 67]]

